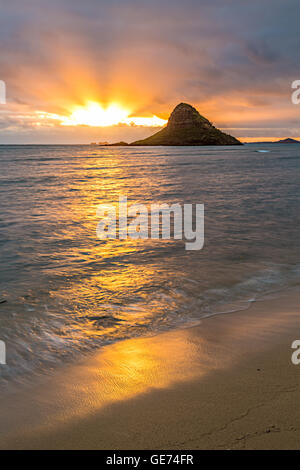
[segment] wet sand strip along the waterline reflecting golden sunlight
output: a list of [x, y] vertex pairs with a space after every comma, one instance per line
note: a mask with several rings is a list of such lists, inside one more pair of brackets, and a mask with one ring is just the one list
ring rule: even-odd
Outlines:
[[[204, 320], [196, 328], [108, 345], [82, 363], [62, 369], [34, 393], [28, 389], [17, 400], [11, 397], [1, 412], [2, 432], [13, 432], [14, 427], [20, 434], [50, 430], [93, 416], [113, 403], [198, 381], [238, 364], [297, 331], [296, 325], [299, 329], [299, 292], [289, 295], [257, 302], [247, 313]], [[287, 341], [287, 354], [289, 346]]]

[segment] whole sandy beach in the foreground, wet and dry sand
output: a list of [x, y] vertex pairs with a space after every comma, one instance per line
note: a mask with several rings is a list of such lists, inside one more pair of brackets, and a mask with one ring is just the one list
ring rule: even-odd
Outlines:
[[299, 292], [107, 346], [1, 402], [1, 449], [297, 449]]

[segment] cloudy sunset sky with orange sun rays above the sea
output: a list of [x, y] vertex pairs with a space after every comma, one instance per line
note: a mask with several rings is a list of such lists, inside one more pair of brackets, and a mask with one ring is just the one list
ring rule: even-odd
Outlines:
[[299, 0], [0, 0], [0, 143], [131, 142], [180, 102], [243, 141], [300, 138], [299, 13]]

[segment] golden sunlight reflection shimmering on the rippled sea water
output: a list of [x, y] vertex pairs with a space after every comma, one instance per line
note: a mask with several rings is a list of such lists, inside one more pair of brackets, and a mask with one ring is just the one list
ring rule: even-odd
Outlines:
[[[163, 161], [162, 158], [160, 163]], [[75, 174], [78, 175], [78, 168]], [[180, 296], [173, 290], [170, 295], [168, 287], [174, 280], [170, 278], [170, 266], [153, 254], [169, 242], [99, 240], [96, 234], [99, 204], [118, 207], [120, 195], [128, 198], [129, 206], [160, 202], [153, 174], [137, 173], [124, 155], [102, 149], [101, 157], [85, 160], [80, 178], [72, 178], [71, 182], [72, 188], [65, 190], [71, 191], [72, 197], [67, 198], [60, 212], [66, 222], [64, 239], [70, 242], [57, 249], [61, 281], [52, 292], [52, 298], [72, 320], [62, 334], [79, 345], [80, 340], [101, 335], [144, 335], [149, 333], [148, 326], [154, 326], [153, 321], [166, 323], [166, 312], [176, 307], [176, 302], [178, 305]], [[163, 187], [164, 181], [161, 184]], [[176, 276], [179, 275], [177, 270]]]

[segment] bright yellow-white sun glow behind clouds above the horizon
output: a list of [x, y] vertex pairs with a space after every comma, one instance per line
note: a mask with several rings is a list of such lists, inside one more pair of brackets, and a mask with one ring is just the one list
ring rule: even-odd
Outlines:
[[[50, 117], [50, 116], [49, 116]], [[76, 107], [69, 117], [53, 115], [62, 126], [109, 127], [117, 125], [162, 127], [167, 121], [157, 116], [134, 117], [131, 111], [112, 103], [103, 108], [99, 103], [89, 102], [86, 106]]]

